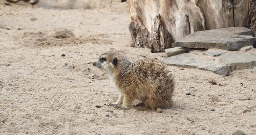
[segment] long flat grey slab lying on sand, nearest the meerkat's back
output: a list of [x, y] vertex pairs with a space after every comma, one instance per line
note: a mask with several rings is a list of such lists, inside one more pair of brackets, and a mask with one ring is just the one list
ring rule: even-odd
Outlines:
[[165, 64], [174, 66], [184, 66], [209, 70], [219, 75], [228, 75], [229, 69], [225, 63], [206, 60], [203, 56], [197, 56], [191, 53], [183, 53], [163, 60]]

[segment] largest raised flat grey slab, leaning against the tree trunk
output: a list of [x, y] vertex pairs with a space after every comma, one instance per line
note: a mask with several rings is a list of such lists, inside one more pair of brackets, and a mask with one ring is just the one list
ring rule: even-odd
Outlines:
[[256, 38], [245, 27], [198, 31], [175, 42], [175, 47], [187, 48], [239, 50], [244, 46], [256, 46]]

